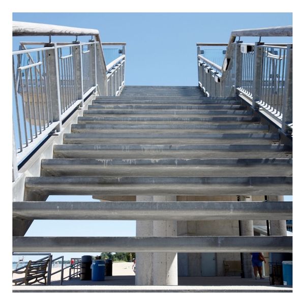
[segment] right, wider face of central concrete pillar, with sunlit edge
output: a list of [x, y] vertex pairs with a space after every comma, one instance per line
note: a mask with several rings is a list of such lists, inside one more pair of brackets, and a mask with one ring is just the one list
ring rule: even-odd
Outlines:
[[[176, 196], [154, 196], [155, 202], [176, 201]], [[177, 236], [176, 221], [154, 221], [154, 236]], [[178, 285], [177, 253], [154, 253], [154, 285]]]

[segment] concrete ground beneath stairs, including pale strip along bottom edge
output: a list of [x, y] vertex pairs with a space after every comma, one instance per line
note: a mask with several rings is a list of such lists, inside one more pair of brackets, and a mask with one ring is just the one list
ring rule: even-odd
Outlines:
[[178, 286], [135, 286], [135, 276], [105, 277], [105, 281], [74, 279], [50, 286], [13, 286], [13, 292], [292, 292], [291, 286], [271, 286], [264, 280], [239, 277], [179, 277]]

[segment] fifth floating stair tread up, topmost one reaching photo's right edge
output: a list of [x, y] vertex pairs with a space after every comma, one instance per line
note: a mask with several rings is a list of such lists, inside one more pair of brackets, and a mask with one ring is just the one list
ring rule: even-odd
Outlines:
[[54, 145], [53, 158], [291, 158], [291, 147], [283, 144], [206, 144], [206, 145]]

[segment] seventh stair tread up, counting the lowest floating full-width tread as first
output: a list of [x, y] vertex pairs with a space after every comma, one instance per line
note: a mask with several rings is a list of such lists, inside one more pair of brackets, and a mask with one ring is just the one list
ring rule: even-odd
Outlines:
[[72, 133], [255, 133], [268, 132], [268, 125], [260, 124], [72, 124]]

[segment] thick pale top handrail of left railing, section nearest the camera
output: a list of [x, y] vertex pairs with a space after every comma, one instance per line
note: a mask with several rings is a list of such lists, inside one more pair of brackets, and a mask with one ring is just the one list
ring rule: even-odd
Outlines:
[[97, 29], [13, 21], [13, 36], [96, 36]]

